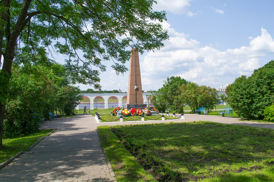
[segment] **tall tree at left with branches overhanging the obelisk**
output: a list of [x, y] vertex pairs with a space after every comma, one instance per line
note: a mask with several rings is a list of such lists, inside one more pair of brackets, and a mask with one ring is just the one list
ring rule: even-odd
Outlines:
[[[13, 65], [49, 65], [46, 48], [68, 57], [65, 68], [73, 83], [99, 86], [101, 60], [124, 72], [128, 47], [140, 53], [160, 49], [167, 32], [158, 22], [164, 12], [153, 0], [23, 0], [0, 1], [0, 149], [6, 98]], [[134, 40], [134, 41], [133, 41]], [[79, 56], [79, 50], [83, 56]], [[4, 61], [2, 64], [2, 56]]]

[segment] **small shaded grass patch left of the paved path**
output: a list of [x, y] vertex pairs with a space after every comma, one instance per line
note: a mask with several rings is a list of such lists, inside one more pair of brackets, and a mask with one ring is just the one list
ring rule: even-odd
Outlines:
[[3, 148], [0, 150], [0, 163], [5, 162], [20, 151], [27, 150], [32, 144], [36, 143], [52, 130], [43, 129], [36, 133], [18, 136], [17, 138], [3, 139]]

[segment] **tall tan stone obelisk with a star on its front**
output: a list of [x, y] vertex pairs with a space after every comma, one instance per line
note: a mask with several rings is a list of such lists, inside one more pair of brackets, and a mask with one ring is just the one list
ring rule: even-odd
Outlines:
[[139, 54], [137, 50], [131, 48], [129, 60], [127, 102], [125, 108], [145, 109], [145, 107], [147, 107], [147, 104], [144, 104], [143, 100]]

